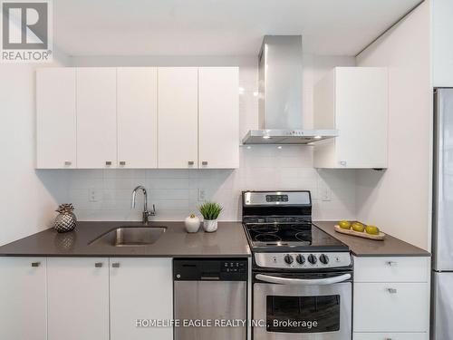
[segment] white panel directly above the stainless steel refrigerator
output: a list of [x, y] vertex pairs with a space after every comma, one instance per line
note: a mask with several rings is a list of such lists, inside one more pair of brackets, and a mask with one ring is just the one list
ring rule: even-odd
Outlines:
[[432, 83], [453, 87], [453, 1], [431, 0]]

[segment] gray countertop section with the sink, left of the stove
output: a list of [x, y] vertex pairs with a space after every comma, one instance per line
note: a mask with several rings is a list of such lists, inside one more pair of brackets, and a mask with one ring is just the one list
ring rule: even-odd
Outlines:
[[188, 234], [183, 222], [153, 222], [166, 226], [156, 243], [145, 247], [89, 245], [107, 231], [138, 222], [78, 222], [74, 231], [59, 234], [53, 228], [0, 247], [0, 256], [30, 257], [250, 257], [240, 222], [219, 222], [217, 232]]

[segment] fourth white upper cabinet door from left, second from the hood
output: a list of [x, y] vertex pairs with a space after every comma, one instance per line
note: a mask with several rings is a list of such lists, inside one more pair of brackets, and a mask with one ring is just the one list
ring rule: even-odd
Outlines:
[[198, 68], [161, 67], [159, 73], [159, 168], [197, 168]]

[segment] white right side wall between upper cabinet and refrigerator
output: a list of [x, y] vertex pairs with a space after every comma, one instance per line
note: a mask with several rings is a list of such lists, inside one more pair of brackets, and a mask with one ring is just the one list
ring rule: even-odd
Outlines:
[[[437, 1], [437, 0], [436, 0]], [[357, 57], [388, 66], [389, 169], [357, 171], [357, 218], [429, 249], [432, 89], [429, 2]]]

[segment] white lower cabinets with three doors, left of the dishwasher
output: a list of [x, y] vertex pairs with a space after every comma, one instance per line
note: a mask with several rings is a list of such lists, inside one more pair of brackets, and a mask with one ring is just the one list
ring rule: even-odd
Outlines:
[[172, 317], [171, 258], [0, 257], [2, 340], [172, 340], [136, 326]]

